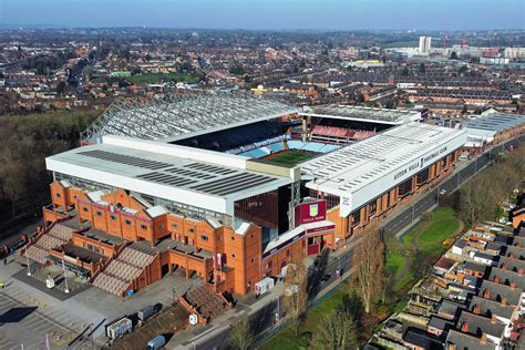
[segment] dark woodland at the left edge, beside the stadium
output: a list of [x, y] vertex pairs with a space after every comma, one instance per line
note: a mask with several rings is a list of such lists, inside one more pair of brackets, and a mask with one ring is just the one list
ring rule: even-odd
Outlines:
[[78, 146], [99, 111], [0, 117], [0, 223], [39, 216], [50, 203], [45, 157]]

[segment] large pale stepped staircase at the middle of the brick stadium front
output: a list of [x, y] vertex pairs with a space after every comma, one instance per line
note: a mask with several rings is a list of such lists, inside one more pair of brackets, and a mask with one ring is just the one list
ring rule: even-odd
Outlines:
[[92, 285], [123, 297], [130, 285], [155, 259], [157, 251], [143, 243], [133, 243], [95, 276]]

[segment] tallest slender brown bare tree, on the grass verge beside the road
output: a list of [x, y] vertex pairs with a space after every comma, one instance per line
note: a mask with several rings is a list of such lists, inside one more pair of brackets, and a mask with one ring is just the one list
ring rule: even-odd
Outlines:
[[353, 251], [356, 285], [363, 300], [364, 312], [369, 313], [372, 300], [381, 292], [383, 282], [384, 243], [377, 225], [364, 230]]

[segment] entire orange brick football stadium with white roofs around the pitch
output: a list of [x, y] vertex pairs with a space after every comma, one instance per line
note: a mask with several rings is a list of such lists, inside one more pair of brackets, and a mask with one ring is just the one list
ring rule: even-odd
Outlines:
[[121, 297], [196, 275], [188, 308], [256, 291], [446, 176], [465, 133], [419, 120], [231, 92], [117, 101], [47, 158], [51, 204], [25, 255]]

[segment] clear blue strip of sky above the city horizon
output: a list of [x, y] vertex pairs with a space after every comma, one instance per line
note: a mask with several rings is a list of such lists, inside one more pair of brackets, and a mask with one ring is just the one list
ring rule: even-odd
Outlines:
[[524, 29], [525, 0], [0, 0], [0, 24], [202, 29]]

